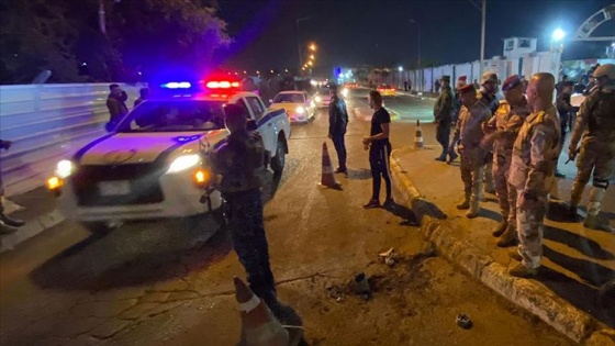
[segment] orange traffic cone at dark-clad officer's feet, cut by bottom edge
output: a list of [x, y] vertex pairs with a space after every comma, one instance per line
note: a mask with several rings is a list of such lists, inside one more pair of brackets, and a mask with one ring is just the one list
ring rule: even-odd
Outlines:
[[287, 346], [289, 333], [276, 320], [267, 304], [235, 277], [235, 298], [242, 310], [242, 341], [245, 346]]

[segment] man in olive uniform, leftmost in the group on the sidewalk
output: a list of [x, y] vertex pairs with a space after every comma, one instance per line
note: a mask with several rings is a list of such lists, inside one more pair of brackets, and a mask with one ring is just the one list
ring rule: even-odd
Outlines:
[[[436, 139], [441, 145], [443, 150], [440, 156], [436, 157], [438, 161], [446, 161], [446, 156], [449, 154], [448, 144], [450, 141], [450, 124], [452, 122], [452, 91], [449, 87], [450, 76], [443, 76], [441, 78], [441, 92], [438, 100], [434, 105], [434, 123], [436, 123]], [[454, 153], [452, 153], [454, 154]], [[451, 155], [452, 157], [452, 154]]]

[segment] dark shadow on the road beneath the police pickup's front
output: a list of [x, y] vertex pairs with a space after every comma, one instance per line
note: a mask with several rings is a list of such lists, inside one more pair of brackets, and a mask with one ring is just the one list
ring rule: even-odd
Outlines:
[[153, 222], [130, 226], [70, 246], [36, 268], [30, 278], [43, 289], [133, 287], [182, 278], [210, 267], [232, 250], [225, 227], [211, 232], [178, 230], [177, 225], [158, 230], [159, 224]]

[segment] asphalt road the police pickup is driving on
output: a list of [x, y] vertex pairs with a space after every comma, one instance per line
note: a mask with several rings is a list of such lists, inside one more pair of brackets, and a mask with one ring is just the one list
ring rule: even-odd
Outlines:
[[[365, 109], [365, 90], [348, 98]], [[414, 120], [429, 121], [433, 103], [387, 100], [400, 113], [394, 147], [413, 142]], [[369, 123], [354, 118], [347, 133], [343, 190], [317, 186], [324, 110], [293, 126], [279, 183], [265, 188], [265, 220], [281, 300], [302, 316], [310, 345], [569, 345], [439, 258], [403, 205], [364, 210], [371, 191], [361, 138]], [[433, 143], [433, 126], [425, 124]], [[228, 234], [209, 220], [201, 230], [181, 221], [125, 224], [96, 238], [65, 222], [3, 254], [0, 261], [2, 345], [234, 345], [239, 317], [233, 276], [244, 276]], [[378, 254], [393, 247], [398, 264]], [[362, 301], [349, 282], [370, 277]], [[455, 324], [466, 313], [473, 328]]]

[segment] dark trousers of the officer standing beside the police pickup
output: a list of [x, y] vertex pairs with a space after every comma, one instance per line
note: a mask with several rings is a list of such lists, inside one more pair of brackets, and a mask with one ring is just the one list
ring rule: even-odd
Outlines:
[[244, 266], [254, 293], [275, 303], [276, 282], [269, 264], [269, 245], [262, 221], [260, 190], [224, 193], [233, 248]]

